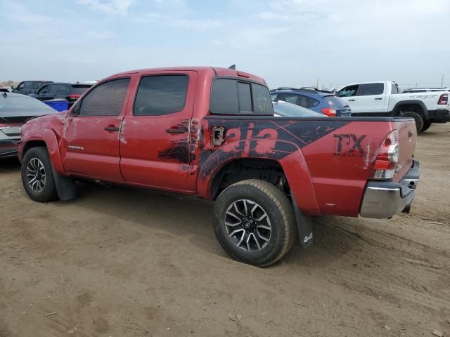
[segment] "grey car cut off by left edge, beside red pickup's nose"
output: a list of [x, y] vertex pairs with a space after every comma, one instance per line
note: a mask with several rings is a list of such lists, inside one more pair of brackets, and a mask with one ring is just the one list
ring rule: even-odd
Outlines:
[[17, 155], [20, 131], [27, 119], [56, 111], [39, 100], [18, 93], [0, 94], [0, 158]]

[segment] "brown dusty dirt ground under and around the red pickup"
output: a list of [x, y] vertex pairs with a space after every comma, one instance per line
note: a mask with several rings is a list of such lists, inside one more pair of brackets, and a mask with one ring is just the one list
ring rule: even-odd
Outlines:
[[450, 336], [449, 128], [418, 139], [411, 214], [316, 218], [266, 269], [226, 256], [210, 203], [84, 183], [38, 204], [2, 161], [0, 337]]

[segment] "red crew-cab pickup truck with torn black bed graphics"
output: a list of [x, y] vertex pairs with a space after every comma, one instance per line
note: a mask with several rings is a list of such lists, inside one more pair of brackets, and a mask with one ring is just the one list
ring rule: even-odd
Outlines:
[[311, 245], [311, 216], [409, 211], [416, 136], [413, 119], [274, 117], [264, 79], [174, 67], [104, 79], [27, 121], [18, 152], [35, 201], [72, 199], [74, 179], [213, 199], [224, 250], [265, 266]]

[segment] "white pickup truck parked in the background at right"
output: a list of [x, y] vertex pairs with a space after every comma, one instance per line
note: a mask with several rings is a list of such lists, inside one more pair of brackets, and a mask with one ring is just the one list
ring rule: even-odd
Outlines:
[[352, 108], [352, 116], [413, 117], [417, 132], [450, 121], [449, 91], [400, 93], [396, 83], [378, 81], [349, 84], [337, 94]]

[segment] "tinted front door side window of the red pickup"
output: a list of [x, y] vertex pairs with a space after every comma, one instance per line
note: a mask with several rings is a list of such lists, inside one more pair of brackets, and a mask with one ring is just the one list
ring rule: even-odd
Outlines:
[[96, 86], [75, 110], [80, 116], [118, 116], [122, 111], [129, 79], [114, 79]]

